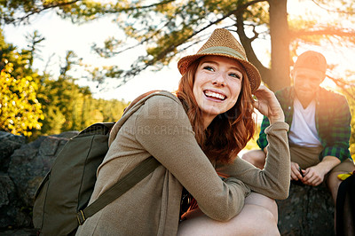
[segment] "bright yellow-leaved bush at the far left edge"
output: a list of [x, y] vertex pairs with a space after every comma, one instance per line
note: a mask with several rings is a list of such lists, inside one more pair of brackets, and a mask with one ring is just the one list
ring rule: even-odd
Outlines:
[[[38, 35], [34, 38], [38, 39]], [[30, 44], [36, 48], [36, 43]], [[43, 108], [37, 99], [41, 78], [32, 70], [33, 51], [17, 51], [4, 42], [1, 31], [0, 45], [0, 129], [29, 137], [41, 129], [43, 119]]]

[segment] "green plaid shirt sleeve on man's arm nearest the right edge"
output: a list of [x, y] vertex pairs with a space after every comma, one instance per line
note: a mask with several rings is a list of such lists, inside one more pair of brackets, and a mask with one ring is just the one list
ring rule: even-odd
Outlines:
[[332, 122], [329, 123], [327, 143], [322, 157], [330, 155], [344, 161], [350, 157], [351, 113], [348, 102], [343, 96], [339, 96], [335, 104], [334, 116]]

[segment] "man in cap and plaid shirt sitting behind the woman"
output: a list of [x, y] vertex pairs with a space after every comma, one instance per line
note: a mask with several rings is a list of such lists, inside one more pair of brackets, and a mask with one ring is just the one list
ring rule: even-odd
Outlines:
[[[346, 98], [319, 87], [326, 77], [327, 61], [316, 51], [305, 51], [297, 59], [291, 77], [294, 85], [276, 91], [276, 97], [290, 126], [288, 142], [291, 156], [291, 180], [316, 186], [323, 181], [336, 196], [341, 180], [339, 174], [355, 170], [349, 152], [351, 113]], [[261, 125], [257, 145], [242, 158], [263, 169], [268, 145]]]

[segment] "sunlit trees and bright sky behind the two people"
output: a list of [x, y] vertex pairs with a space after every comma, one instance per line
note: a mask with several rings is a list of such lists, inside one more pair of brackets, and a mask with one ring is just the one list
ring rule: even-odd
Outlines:
[[[354, 114], [354, 14], [352, 0], [0, 1], [0, 130], [34, 140], [116, 121], [147, 90], [177, 89], [177, 60], [215, 28], [231, 30], [272, 90], [292, 84], [297, 55], [323, 53], [322, 86]], [[354, 117], [351, 127], [354, 157]]]

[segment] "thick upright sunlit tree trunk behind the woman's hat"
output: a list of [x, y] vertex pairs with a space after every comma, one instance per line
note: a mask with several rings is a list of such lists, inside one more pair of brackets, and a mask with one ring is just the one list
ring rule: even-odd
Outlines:
[[289, 33], [287, 0], [268, 0], [270, 5], [270, 36], [272, 42], [272, 69], [270, 80], [265, 81], [271, 90], [290, 85]]

